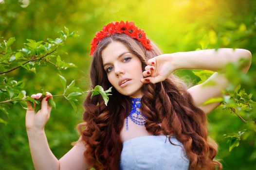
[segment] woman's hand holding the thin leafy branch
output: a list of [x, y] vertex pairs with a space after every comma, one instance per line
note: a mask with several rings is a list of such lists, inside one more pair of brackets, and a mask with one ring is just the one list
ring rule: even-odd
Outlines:
[[[29, 130], [43, 130], [45, 124], [47, 123], [48, 119], [50, 118], [50, 113], [52, 110], [52, 107], [48, 104], [48, 100], [52, 96], [51, 93], [46, 92], [46, 97], [42, 99], [41, 102], [41, 109], [38, 110], [37, 113], [35, 113], [35, 105], [34, 102], [34, 108], [30, 104], [30, 102], [27, 101], [27, 112], [26, 112], [26, 129]], [[31, 95], [32, 98], [39, 100], [42, 97], [42, 93], [37, 93], [37, 95], [33, 94]]]

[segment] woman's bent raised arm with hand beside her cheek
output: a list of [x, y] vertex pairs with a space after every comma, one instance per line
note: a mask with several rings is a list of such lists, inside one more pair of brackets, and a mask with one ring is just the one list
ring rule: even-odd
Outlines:
[[[148, 60], [148, 66], [143, 75], [146, 77], [148, 70], [150, 76], [142, 79], [143, 83], [158, 83], [164, 81], [176, 69], [206, 69], [212, 71], [221, 71], [228, 63], [238, 62], [244, 58], [249, 60], [247, 65], [241, 68], [241, 72], [246, 73], [251, 65], [252, 54], [244, 49], [215, 49], [176, 52], [163, 54]], [[148, 79], [149, 81], [146, 81]], [[214, 85], [205, 85], [213, 81]], [[201, 108], [204, 113], [209, 113], [217, 106], [219, 102], [203, 105], [203, 103], [214, 97], [221, 97], [221, 90], [225, 89], [228, 81], [221, 73], [215, 72], [205, 82], [195, 85], [188, 89], [195, 104]]]

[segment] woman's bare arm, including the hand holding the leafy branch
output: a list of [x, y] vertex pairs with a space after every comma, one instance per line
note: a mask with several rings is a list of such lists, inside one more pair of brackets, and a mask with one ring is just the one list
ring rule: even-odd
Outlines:
[[[31, 97], [40, 99], [41, 96], [41, 93], [37, 93]], [[50, 118], [52, 109], [47, 102], [49, 96], [52, 95], [47, 92], [46, 97], [41, 102], [41, 110], [37, 113], [27, 102], [26, 129], [34, 167], [36, 170], [85, 170], [87, 168], [83, 155], [85, 146], [82, 142], [77, 142], [60, 160], [55, 157], [49, 147], [44, 132], [44, 126]]]

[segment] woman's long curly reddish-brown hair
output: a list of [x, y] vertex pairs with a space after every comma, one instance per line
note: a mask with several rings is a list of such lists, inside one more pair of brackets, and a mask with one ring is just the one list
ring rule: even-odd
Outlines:
[[[148, 51], [126, 34], [112, 34], [104, 38], [94, 52], [90, 68], [91, 88], [101, 85], [109, 89], [112, 86], [103, 69], [101, 52], [113, 41], [122, 42], [135, 54], [142, 62], [143, 71], [148, 59], [162, 53], [154, 43], [153, 50]], [[214, 159], [218, 145], [208, 137], [206, 115], [195, 106], [184, 83], [171, 75], [163, 82], [144, 84], [142, 93], [141, 112], [147, 117], [145, 127], [150, 134], [175, 136], [182, 142], [189, 158], [189, 170], [222, 169], [219, 161]], [[91, 99], [89, 93], [84, 107], [84, 122], [78, 124], [78, 130], [86, 147], [84, 156], [88, 169], [119, 170], [123, 149], [120, 132], [131, 109], [129, 97], [113, 87], [108, 106], [100, 95]]]

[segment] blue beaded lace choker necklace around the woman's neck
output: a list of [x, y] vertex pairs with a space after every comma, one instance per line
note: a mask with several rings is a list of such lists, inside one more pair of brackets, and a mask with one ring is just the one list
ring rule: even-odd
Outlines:
[[[130, 98], [131, 100], [131, 111], [129, 113], [129, 118], [138, 125], [145, 125], [146, 116], [140, 112], [141, 108], [141, 98]], [[128, 117], [126, 118], [126, 130], [128, 131]]]

